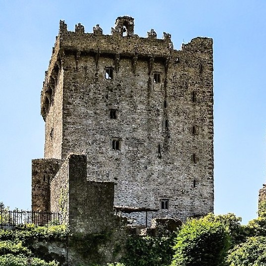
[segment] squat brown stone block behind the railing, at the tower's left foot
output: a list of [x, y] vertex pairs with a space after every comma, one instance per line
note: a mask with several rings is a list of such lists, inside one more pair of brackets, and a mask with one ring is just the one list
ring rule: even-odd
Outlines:
[[62, 160], [32, 160], [32, 211], [50, 212], [50, 180], [61, 166]]

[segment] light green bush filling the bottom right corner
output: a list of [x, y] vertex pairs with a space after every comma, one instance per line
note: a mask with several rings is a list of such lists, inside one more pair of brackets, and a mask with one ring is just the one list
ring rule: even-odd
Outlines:
[[266, 266], [266, 237], [249, 237], [227, 257], [228, 266]]

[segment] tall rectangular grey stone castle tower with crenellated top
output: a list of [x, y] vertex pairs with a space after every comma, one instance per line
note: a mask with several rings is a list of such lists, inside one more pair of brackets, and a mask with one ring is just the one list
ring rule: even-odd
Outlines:
[[[99, 25], [93, 33], [81, 24], [71, 32], [60, 21], [41, 113], [45, 155], [32, 163], [33, 210], [60, 210], [54, 195], [58, 201], [63, 189], [51, 183], [78, 154], [86, 155], [90, 184], [113, 183], [114, 205], [158, 210], [150, 218], [213, 212], [212, 39], [174, 50], [170, 34], [134, 34], [132, 17], [118, 17], [111, 35]], [[76, 197], [84, 193], [75, 190]], [[144, 214], [134, 218], [143, 223]]]

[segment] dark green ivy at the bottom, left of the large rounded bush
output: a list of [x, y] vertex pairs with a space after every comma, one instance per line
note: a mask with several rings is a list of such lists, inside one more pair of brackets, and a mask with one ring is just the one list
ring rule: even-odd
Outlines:
[[175, 234], [162, 237], [131, 237], [127, 254], [122, 259], [126, 266], [165, 266], [171, 263]]

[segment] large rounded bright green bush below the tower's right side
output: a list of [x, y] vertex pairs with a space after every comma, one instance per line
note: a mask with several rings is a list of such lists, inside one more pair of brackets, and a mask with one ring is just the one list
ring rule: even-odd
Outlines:
[[221, 222], [189, 219], [176, 237], [171, 266], [218, 266], [229, 246], [230, 237]]

